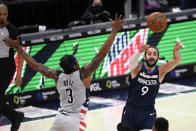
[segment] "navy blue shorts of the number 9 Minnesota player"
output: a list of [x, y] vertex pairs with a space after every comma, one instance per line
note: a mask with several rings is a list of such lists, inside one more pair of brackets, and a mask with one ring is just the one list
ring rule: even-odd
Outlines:
[[133, 131], [139, 131], [142, 129], [152, 129], [156, 117], [155, 109], [142, 111], [125, 106], [121, 122], [126, 123]]

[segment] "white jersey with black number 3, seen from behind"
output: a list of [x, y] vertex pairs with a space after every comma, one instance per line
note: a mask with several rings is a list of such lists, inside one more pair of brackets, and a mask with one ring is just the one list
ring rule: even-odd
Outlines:
[[86, 100], [86, 87], [80, 79], [80, 71], [71, 74], [61, 73], [57, 81], [60, 109], [70, 113], [79, 113]]

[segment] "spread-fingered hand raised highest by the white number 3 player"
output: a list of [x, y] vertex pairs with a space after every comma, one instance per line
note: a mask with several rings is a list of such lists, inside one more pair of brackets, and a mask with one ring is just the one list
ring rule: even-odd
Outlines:
[[115, 30], [116, 32], [118, 32], [119, 30], [121, 30], [121, 28], [126, 25], [126, 22], [124, 21], [124, 17], [121, 19], [122, 15], [120, 15], [118, 17], [117, 14], [115, 14], [115, 20], [109, 19], [110, 22], [112, 23], [112, 28], [113, 30]]

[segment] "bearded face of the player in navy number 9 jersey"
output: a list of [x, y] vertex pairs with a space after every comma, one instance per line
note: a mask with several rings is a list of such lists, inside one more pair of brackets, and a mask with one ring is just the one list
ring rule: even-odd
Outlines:
[[146, 64], [149, 67], [154, 67], [158, 61], [158, 52], [155, 48], [149, 48], [149, 52], [145, 55]]

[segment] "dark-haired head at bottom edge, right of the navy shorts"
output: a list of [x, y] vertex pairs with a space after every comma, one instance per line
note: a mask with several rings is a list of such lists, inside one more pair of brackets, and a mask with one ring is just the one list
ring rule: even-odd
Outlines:
[[163, 117], [158, 117], [154, 122], [154, 128], [156, 131], [168, 131], [169, 122]]

